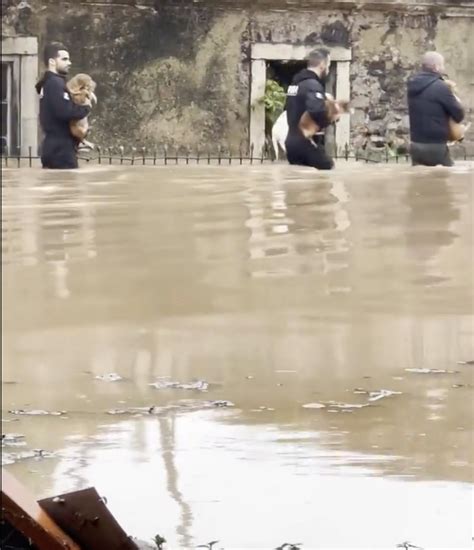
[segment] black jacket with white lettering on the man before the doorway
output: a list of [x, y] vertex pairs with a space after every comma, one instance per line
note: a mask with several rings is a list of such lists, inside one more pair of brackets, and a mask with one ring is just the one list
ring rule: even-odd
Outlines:
[[286, 98], [288, 134], [302, 135], [298, 123], [305, 111], [308, 111], [321, 129], [329, 125], [324, 103], [325, 93], [324, 82], [313, 71], [303, 69], [295, 75]]

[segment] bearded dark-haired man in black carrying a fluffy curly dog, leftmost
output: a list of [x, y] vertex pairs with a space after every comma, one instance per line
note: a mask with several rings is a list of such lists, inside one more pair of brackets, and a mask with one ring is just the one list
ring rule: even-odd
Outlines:
[[36, 84], [40, 95], [40, 124], [45, 134], [41, 163], [43, 168], [77, 168], [78, 143], [69, 130], [69, 122], [86, 117], [90, 105], [75, 105], [71, 100], [65, 80], [71, 60], [64, 46], [46, 46], [44, 63], [47, 70]]

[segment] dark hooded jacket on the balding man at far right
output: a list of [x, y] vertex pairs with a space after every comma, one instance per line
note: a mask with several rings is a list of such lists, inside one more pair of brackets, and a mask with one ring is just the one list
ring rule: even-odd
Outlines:
[[410, 136], [415, 143], [446, 143], [450, 118], [461, 122], [464, 110], [438, 73], [421, 72], [408, 80]]

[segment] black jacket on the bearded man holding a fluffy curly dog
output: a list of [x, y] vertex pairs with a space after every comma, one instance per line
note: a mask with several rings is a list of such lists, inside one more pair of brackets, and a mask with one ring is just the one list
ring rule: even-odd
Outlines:
[[85, 118], [90, 108], [74, 104], [65, 79], [51, 71], [44, 73], [36, 91], [40, 94], [40, 124], [46, 136], [74, 139], [69, 122]]

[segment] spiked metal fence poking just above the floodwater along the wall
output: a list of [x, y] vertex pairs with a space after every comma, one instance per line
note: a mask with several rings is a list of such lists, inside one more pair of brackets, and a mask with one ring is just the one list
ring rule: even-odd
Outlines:
[[[462, 145], [456, 145], [451, 149], [451, 154], [456, 160], [474, 160], [474, 155], [468, 154]], [[355, 161], [372, 164], [406, 163], [410, 157], [408, 153], [393, 152], [389, 148], [359, 149], [354, 150], [346, 145], [338, 149], [332, 155], [335, 160]], [[86, 163], [100, 165], [123, 166], [169, 166], [169, 165], [254, 165], [277, 162], [273, 149], [265, 146], [261, 151], [249, 150], [232, 152], [218, 147], [216, 150], [206, 151], [172, 151], [167, 147], [161, 149], [147, 149], [146, 147], [96, 147], [94, 150], [79, 150], [79, 160]], [[40, 156], [33, 154], [31, 147], [25, 154], [20, 149], [9, 151], [5, 149], [1, 155], [2, 167], [34, 167], [39, 166]]]

